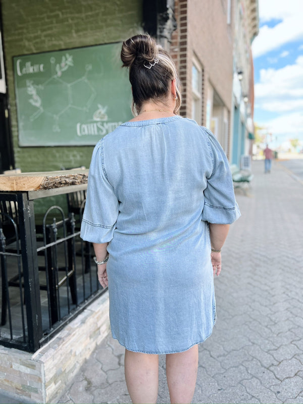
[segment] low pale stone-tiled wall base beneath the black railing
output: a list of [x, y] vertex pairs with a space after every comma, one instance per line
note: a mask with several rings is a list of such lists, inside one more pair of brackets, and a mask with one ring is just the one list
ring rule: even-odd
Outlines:
[[24, 402], [56, 402], [109, 331], [107, 291], [34, 354], [0, 346], [0, 392]]

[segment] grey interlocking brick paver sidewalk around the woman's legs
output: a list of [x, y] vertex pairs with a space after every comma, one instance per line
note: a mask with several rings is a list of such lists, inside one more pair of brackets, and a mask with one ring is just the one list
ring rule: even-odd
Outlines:
[[[194, 403], [303, 402], [303, 185], [279, 163], [253, 162], [242, 217], [231, 226], [215, 279], [217, 324], [200, 344]], [[130, 402], [124, 350], [110, 336], [59, 402]], [[165, 361], [160, 403], [169, 402]]]

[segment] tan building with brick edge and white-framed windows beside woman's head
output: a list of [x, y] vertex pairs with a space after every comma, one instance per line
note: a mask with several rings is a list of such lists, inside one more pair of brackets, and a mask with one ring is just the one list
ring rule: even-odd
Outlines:
[[171, 53], [182, 82], [181, 114], [210, 128], [229, 151], [233, 77], [233, 6], [176, 0]]

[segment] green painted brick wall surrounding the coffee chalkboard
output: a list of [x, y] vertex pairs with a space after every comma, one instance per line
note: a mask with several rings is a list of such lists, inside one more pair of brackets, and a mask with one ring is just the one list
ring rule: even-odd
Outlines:
[[92, 146], [19, 147], [12, 58], [142, 32], [142, 0], [2, 0], [1, 5], [16, 167], [23, 172], [89, 167]]

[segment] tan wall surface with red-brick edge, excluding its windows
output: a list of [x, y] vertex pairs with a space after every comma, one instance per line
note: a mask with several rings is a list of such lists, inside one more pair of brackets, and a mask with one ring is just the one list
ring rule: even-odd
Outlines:
[[227, 3], [224, 0], [175, 0], [178, 28], [172, 35], [171, 54], [182, 85], [180, 114], [191, 117], [191, 68], [195, 57], [202, 67], [203, 125], [206, 124], [210, 85], [222, 99], [229, 116], [232, 108], [234, 21], [232, 19], [231, 24], [227, 24]]

